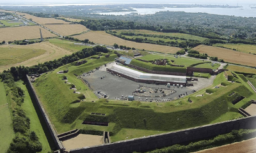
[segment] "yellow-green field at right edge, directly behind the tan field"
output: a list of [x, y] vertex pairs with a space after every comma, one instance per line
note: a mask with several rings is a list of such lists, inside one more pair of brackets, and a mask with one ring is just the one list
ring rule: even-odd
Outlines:
[[248, 44], [234, 44], [234, 43], [226, 43], [226, 44], [221, 44], [221, 43], [216, 43], [213, 46], [215, 47], [225, 47], [225, 48], [230, 48], [230, 49], [235, 49], [238, 52], [246, 52], [249, 54], [256, 54], [256, 46], [255, 45], [248, 45]]

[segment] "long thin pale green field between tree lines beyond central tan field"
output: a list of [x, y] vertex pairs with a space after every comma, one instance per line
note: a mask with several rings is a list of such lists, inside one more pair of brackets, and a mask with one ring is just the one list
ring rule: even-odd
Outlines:
[[198, 40], [198, 41], [204, 41], [207, 38], [203, 38], [200, 36], [194, 36], [192, 34], [182, 34], [182, 33], [161, 33], [157, 31], [148, 31], [148, 30], [115, 30], [118, 34], [122, 32], [131, 32], [131, 33], [138, 33], [138, 34], [156, 34], [156, 35], [162, 35], [162, 36], [172, 36], [177, 38], [184, 38], [186, 40]]

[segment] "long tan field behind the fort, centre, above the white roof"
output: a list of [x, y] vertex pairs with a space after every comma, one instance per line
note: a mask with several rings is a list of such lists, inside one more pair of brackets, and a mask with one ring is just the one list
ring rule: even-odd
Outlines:
[[122, 40], [121, 38], [112, 36], [111, 34], [105, 33], [104, 31], [90, 31], [88, 33], [74, 36], [74, 38], [77, 38], [79, 40], [88, 39], [90, 41], [93, 41], [94, 43], [100, 43], [104, 45], [114, 45], [114, 43], [117, 43], [118, 45], [124, 45], [126, 47], [134, 47], [140, 50], [144, 49], [148, 51], [163, 52], [163, 53], [169, 53], [169, 54], [175, 54], [177, 51], [180, 50], [180, 48], [177, 48], [177, 47], [168, 47], [168, 46], [154, 45], [154, 44], [148, 44], [148, 43], [136, 43], [133, 41]]

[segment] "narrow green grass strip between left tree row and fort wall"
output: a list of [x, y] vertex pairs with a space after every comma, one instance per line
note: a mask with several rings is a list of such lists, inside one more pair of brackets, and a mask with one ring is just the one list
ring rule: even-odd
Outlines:
[[22, 109], [26, 113], [26, 116], [30, 119], [30, 130], [35, 131], [36, 135], [39, 138], [39, 141], [42, 143], [43, 149], [41, 152], [47, 153], [51, 151], [51, 148], [45, 136], [44, 129], [42, 128], [42, 125], [36, 113], [35, 107], [33, 106], [32, 100], [29, 96], [29, 92], [28, 92], [28, 89], [26, 88], [26, 84], [24, 84], [24, 82], [22, 82], [21, 80], [19, 82], [16, 82], [16, 84], [18, 85], [18, 87], [20, 87], [22, 90], [25, 91], [24, 103], [22, 104]]

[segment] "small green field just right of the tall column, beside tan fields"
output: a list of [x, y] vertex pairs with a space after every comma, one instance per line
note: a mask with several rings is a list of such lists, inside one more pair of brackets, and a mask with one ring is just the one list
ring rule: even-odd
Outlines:
[[64, 48], [65, 50], [69, 50], [70, 52], [77, 52], [83, 48], [92, 48], [90, 46], [74, 45], [74, 43], [77, 43], [76, 41], [50, 39], [49, 42], [58, 47]]

